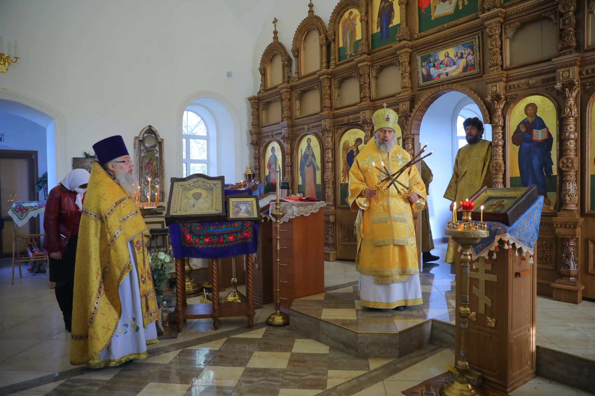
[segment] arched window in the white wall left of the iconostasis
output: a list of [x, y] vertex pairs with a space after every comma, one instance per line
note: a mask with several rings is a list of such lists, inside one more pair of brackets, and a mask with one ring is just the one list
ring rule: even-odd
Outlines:
[[208, 175], [209, 138], [205, 122], [195, 112], [186, 110], [182, 118], [182, 173]]

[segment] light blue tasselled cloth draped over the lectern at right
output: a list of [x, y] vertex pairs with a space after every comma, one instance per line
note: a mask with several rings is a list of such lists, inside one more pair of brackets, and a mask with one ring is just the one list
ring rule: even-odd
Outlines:
[[505, 249], [513, 249], [512, 244], [514, 243], [515, 254], [519, 254], [518, 249], [521, 249], [521, 255], [529, 252], [529, 262], [533, 262], [533, 252], [539, 233], [542, 207], [543, 197], [540, 196], [511, 226], [506, 226], [497, 221], [487, 221], [490, 236], [482, 239], [478, 245], [473, 246], [472, 259], [475, 260], [480, 256], [488, 258], [488, 252], [490, 251], [493, 252], [491, 258], [496, 258], [496, 246], [498, 246], [500, 240], [503, 240]]

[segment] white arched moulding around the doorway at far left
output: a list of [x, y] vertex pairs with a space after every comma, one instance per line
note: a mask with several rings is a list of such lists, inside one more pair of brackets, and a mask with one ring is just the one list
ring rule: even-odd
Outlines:
[[[54, 147], [55, 147], [55, 166], [56, 180], [62, 180], [68, 173], [68, 157], [66, 156], [65, 147], [65, 122], [64, 115], [50, 106], [49, 104], [37, 100], [32, 96], [17, 91], [0, 89], [0, 99], [11, 100], [29, 106], [39, 112], [54, 119]], [[49, 182], [50, 180], [48, 180]]]

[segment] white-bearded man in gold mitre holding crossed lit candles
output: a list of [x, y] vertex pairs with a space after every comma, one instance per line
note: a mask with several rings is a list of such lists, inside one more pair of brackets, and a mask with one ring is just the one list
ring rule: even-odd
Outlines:
[[425, 208], [425, 186], [414, 165], [398, 179], [411, 189], [410, 194], [405, 194], [405, 188], [399, 184], [402, 194], [394, 186], [387, 191], [374, 189], [382, 177], [375, 166], [384, 164], [394, 173], [411, 156], [394, 144], [397, 113], [380, 109], [372, 119], [374, 138], [355, 157], [349, 171], [349, 205], [352, 211], [358, 211], [355, 261], [359, 294], [363, 306], [401, 311], [408, 305], [422, 303], [411, 210]]

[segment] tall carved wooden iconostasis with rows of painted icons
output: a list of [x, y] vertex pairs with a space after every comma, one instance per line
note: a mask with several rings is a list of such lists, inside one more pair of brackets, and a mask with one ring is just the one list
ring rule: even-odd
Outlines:
[[[386, 103], [399, 114], [401, 144], [413, 154], [425, 111], [457, 91], [491, 124], [493, 187], [536, 183], [546, 198], [538, 294], [595, 298], [595, 1], [341, 0], [328, 24], [310, 2], [293, 37], [293, 68], [277, 37], [283, 21], [274, 23], [261, 86], [248, 98], [255, 174], [270, 179], [275, 142], [292, 192], [327, 202], [325, 259], [355, 258], [346, 172], [371, 138], [374, 111]], [[547, 131], [536, 126], [543, 175], [527, 169], [513, 139], [528, 117]], [[304, 166], [308, 138], [315, 164]]]

